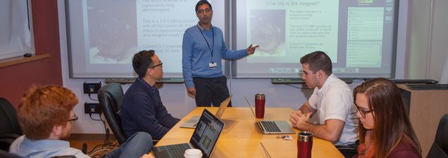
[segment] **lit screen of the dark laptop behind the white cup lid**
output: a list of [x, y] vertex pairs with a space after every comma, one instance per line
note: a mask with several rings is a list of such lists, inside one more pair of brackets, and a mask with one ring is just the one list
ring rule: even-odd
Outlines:
[[201, 150], [204, 157], [210, 157], [223, 128], [223, 121], [211, 114], [209, 110], [204, 110], [189, 143]]

